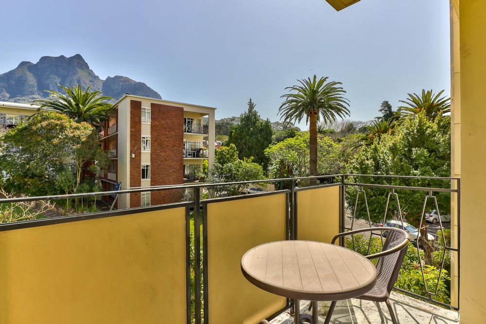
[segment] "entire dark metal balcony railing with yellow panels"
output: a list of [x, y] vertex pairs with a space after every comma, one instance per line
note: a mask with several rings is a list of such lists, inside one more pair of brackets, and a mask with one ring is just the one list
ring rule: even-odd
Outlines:
[[[292, 302], [244, 279], [240, 270], [244, 252], [276, 240], [330, 242], [335, 234], [355, 229], [358, 218], [401, 222], [410, 216], [406, 214], [412, 209], [410, 204], [417, 201], [421, 201], [415, 206], [422, 211], [420, 226], [428, 208], [451, 208], [450, 240], [443, 239], [438, 250], [443, 254], [440, 268], [450, 259], [450, 297], [438, 298], [443, 288], [437, 288], [440, 275], [438, 279], [430, 276], [422, 248], [409, 250], [417, 254], [416, 267], [422, 275], [413, 280], [423, 280], [424, 293], [397, 290], [442, 307], [459, 308], [460, 179], [338, 174], [259, 181], [263, 186], [274, 184], [276, 190], [239, 194], [254, 183], [0, 199], [2, 206], [103, 195], [140, 199], [140, 193], [147, 191], [154, 201], [166, 190], [185, 193], [176, 203], [0, 224], [0, 255], [22, 256], [10, 257], [0, 266], [1, 287], [7, 283], [9, 287], [0, 290], [0, 303], [9, 303], [0, 319], [35, 323], [40, 316], [52, 322], [153, 323], [168, 316], [167, 308], [160, 305], [170, 305], [171, 323], [258, 323], [274, 318]], [[228, 194], [234, 195], [223, 197]], [[371, 227], [372, 221], [365, 226]], [[442, 222], [439, 228], [443, 229]], [[357, 239], [341, 244], [352, 247]], [[46, 291], [56, 293], [46, 295]], [[65, 298], [72, 291], [76, 291], [75, 301]], [[26, 310], [25, 303], [33, 308]]]

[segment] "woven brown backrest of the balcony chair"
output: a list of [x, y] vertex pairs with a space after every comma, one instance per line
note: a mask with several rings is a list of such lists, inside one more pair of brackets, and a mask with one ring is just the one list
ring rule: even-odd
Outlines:
[[[399, 230], [390, 230], [383, 243], [382, 251], [387, 251], [399, 245], [406, 239], [406, 235]], [[373, 290], [385, 292], [388, 296], [397, 282], [401, 264], [407, 253], [408, 245], [393, 254], [382, 256], [376, 263], [377, 280]]]

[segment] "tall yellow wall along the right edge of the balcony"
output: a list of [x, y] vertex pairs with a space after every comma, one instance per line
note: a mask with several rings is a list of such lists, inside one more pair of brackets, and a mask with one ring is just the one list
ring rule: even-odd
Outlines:
[[[486, 1], [459, 1], [461, 323], [486, 318]], [[455, 113], [455, 112], [454, 112]]]

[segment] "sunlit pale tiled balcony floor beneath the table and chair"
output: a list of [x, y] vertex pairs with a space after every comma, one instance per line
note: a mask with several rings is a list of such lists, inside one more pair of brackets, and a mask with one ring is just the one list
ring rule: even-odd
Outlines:
[[[459, 323], [458, 313], [442, 307], [434, 306], [429, 303], [408, 297], [397, 292], [393, 292], [390, 298], [392, 307], [397, 315], [397, 320], [401, 324], [453, 324]], [[319, 319], [324, 321], [329, 308], [327, 302], [319, 304]], [[307, 310], [308, 302], [301, 303], [301, 309]], [[385, 323], [392, 323], [388, 309], [381, 303], [382, 311], [385, 316]], [[348, 299], [337, 303], [332, 314], [331, 324], [375, 324], [380, 323], [380, 315], [373, 302]], [[286, 311], [271, 324], [294, 324], [294, 318]]]

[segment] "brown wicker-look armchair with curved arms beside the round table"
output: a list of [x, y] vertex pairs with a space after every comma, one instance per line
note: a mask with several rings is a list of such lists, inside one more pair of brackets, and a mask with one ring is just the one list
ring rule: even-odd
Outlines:
[[[375, 287], [364, 295], [356, 298], [375, 302], [376, 306], [378, 307], [378, 312], [380, 313], [380, 319], [382, 320], [382, 323], [384, 322], [384, 317], [379, 303], [384, 302], [386, 304], [386, 307], [388, 308], [388, 311], [390, 312], [392, 323], [396, 324], [397, 318], [388, 298], [390, 297], [390, 292], [393, 290], [395, 282], [397, 282], [401, 264], [408, 249], [410, 235], [399, 228], [371, 227], [338, 234], [332, 239], [331, 244], [334, 244], [336, 239], [344, 236], [372, 231], [389, 231], [389, 233], [386, 236], [386, 239], [383, 243], [382, 251], [380, 253], [365, 256], [367, 259], [378, 258], [378, 262], [376, 263], [377, 280]], [[331, 302], [328, 314], [326, 316], [326, 321], [324, 322], [325, 324], [329, 323], [332, 311], [334, 310], [335, 306], [336, 302]]]

